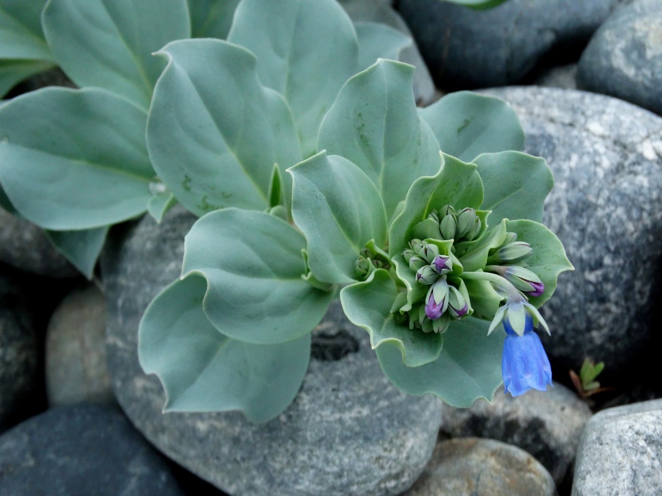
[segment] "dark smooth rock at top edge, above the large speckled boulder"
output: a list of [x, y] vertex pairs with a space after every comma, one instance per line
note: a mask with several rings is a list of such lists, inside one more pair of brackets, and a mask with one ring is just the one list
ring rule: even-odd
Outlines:
[[399, 10], [437, 85], [518, 83], [541, 60], [571, 61], [618, 0], [508, 0], [475, 11], [440, 0], [401, 0]]

